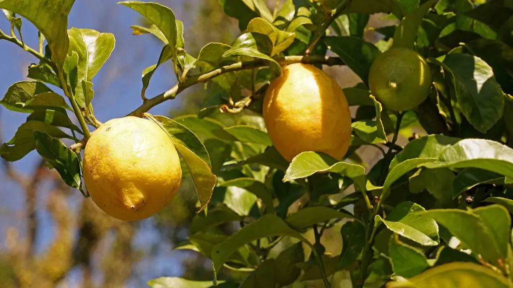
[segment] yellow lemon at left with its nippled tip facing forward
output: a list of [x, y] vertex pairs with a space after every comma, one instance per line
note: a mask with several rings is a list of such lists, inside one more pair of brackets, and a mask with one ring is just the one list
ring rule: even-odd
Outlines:
[[182, 179], [180, 158], [167, 133], [150, 120], [112, 119], [84, 151], [84, 181], [94, 203], [120, 220], [140, 220], [164, 208]]

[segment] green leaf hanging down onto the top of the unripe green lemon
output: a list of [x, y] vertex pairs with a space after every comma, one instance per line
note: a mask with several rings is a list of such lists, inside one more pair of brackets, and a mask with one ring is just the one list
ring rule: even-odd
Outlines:
[[422, 4], [419, 8], [415, 9], [415, 11], [404, 17], [399, 26], [396, 28], [396, 32], [393, 34], [392, 47], [413, 49], [413, 45], [417, 39], [417, 31], [422, 24], [422, 19], [426, 15], [429, 8], [435, 3], [436, 0], [429, 0]]

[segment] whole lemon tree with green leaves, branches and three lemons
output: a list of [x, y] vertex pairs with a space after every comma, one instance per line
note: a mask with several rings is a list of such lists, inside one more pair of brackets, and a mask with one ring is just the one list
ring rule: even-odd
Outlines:
[[[36, 150], [124, 221], [194, 190], [179, 248], [208, 259], [213, 281], [149, 286], [513, 286], [510, 2], [221, 0], [241, 33], [194, 55], [170, 7], [120, 2], [149, 25], [132, 26], [148, 34], [134, 37], [162, 51], [142, 71], [140, 107], [105, 123], [93, 83], [115, 38], [70, 28], [73, 4], [0, 0], [11, 27], [1, 45], [38, 61], [0, 100], [27, 114], [0, 156]], [[388, 26], [370, 20], [383, 17]], [[39, 47], [22, 23], [40, 32]], [[165, 65], [175, 83], [148, 95]], [[208, 92], [198, 113], [148, 112], [196, 84]], [[340, 234], [336, 252], [328, 234]]]

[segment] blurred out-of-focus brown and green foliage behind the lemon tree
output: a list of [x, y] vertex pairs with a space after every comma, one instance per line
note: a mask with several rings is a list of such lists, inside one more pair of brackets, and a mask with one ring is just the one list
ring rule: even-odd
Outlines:
[[[171, 7], [177, 14], [177, 18], [184, 20], [184, 37], [187, 50], [191, 55], [197, 55], [201, 47], [210, 42], [231, 43], [240, 33], [237, 21], [224, 14], [219, 0], [155, 2]], [[294, 2], [300, 5], [302, 1]], [[271, 11], [277, 3], [280, 2], [268, 1]], [[91, 11], [103, 9], [100, 1], [94, 1], [94, 4], [88, 6]], [[123, 9], [118, 6], [112, 7]], [[102, 15], [105, 22], [114, 22], [109, 25], [119, 26], [115, 23], [115, 19], [120, 17], [116, 11], [103, 11]], [[113, 18], [109, 20], [107, 17]], [[144, 19], [141, 18], [139, 21], [141, 25], [149, 26], [144, 23]], [[386, 41], [380, 40], [380, 34], [374, 33], [373, 27], [387, 26], [392, 21], [384, 18], [383, 15], [372, 15], [364, 30], [366, 40], [378, 42], [378, 46], [387, 45]], [[98, 24], [99, 27], [95, 29], [103, 31], [104, 24]], [[128, 29], [128, 27], [122, 28]], [[143, 52], [145, 42], [140, 41], [142, 36], [126, 36], [126, 38], [124, 38], [125, 35], [115, 34], [115, 36], [118, 43], [116, 50], [127, 49], [127, 47], [130, 47], [130, 50], [124, 53], [123, 57], [113, 57], [114, 59], [110, 60], [117, 61], [110, 64], [117, 69], [106, 72], [99, 83], [95, 84], [97, 94], [102, 93], [102, 88], [108, 89], [109, 84], [113, 83], [116, 77], [123, 76], [119, 71], [131, 69], [133, 61], [137, 61], [145, 53]], [[152, 40], [159, 41], [156, 38]], [[129, 46], [126, 46], [127, 44]], [[2, 43], [2, 45], [6, 44]], [[152, 56], [155, 56], [152, 57], [153, 59], [158, 55]], [[5, 71], [12, 69], [3, 68]], [[360, 81], [358, 76], [346, 67], [326, 67], [325, 70], [336, 77], [343, 88], [352, 87]], [[165, 73], [168, 73], [168, 78], [173, 78], [170, 70]], [[134, 86], [136, 90], [140, 89], [139, 86]], [[7, 86], [2, 89], [7, 89]], [[172, 101], [173, 105], [168, 115], [177, 117], [198, 114], [205, 100], [212, 97], [217, 90], [218, 88], [212, 83], [189, 89]], [[241, 91], [241, 93], [245, 92], [247, 91]], [[95, 107], [112, 105], [106, 99], [95, 98], [96, 100], [104, 101], [105, 104], [96, 104]], [[112, 109], [115, 110], [116, 107]], [[114, 112], [123, 113], [123, 111]], [[236, 115], [215, 112], [209, 117], [227, 126], [244, 123], [263, 127], [261, 118], [253, 117], [252, 112], [248, 110]], [[406, 131], [403, 138], [410, 136], [411, 132], [413, 131]], [[3, 135], [0, 132], [1, 136], [9, 138], [11, 135]], [[215, 142], [210, 144], [216, 145]], [[366, 146], [359, 151], [359, 155], [372, 166], [381, 153], [376, 148]], [[143, 221], [122, 222], [98, 210], [90, 198], [83, 198], [77, 191], [71, 191], [54, 171], [44, 166], [44, 161], [38, 159], [30, 163], [25, 162], [24, 165], [30, 166], [29, 169], [16, 169], [3, 159], [0, 161], [2, 161], [0, 195], [2, 197], [23, 195], [24, 199], [21, 210], [7, 210], [2, 211], [1, 214], [0, 227], [5, 228], [5, 231], [2, 231], [4, 242], [0, 250], [0, 286], [5, 288], [143, 287], [146, 286], [147, 280], [160, 276], [181, 276], [194, 280], [212, 279], [209, 259], [190, 250], [175, 250], [177, 246], [187, 241], [190, 224], [196, 214], [195, 211], [198, 210], [192, 182], [187, 177], [184, 178], [181, 190], [175, 199], [159, 214]], [[213, 197], [220, 197], [219, 195], [223, 192], [222, 189], [217, 188]], [[294, 205], [297, 208], [297, 204], [292, 204], [289, 209], [293, 210]], [[323, 235], [322, 243], [328, 253], [336, 255], [341, 250], [339, 227], [342, 223], [337, 224], [338, 228], [330, 229]], [[221, 227], [228, 234], [238, 228], [239, 225]], [[48, 238], [45, 238], [43, 241], [45, 244], [42, 246], [36, 243], [37, 239], [42, 237], [41, 235], [47, 235], [44, 237]], [[305, 237], [312, 239], [313, 235], [305, 235]], [[271, 253], [278, 254], [276, 251], [283, 250], [291, 244], [291, 242], [282, 241], [271, 250]], [[224, 269], [219, 278], [241, 280], [247, 275], [249, 275], [248, 272]], [[333, 282], [343, 287], [343, 279], [347, 279], [347, 276], [336, 274]], [[337, 281], [337, 278], [342, 280]], [[306, 287], [322, 285], [320, 280], [305, 283]]]

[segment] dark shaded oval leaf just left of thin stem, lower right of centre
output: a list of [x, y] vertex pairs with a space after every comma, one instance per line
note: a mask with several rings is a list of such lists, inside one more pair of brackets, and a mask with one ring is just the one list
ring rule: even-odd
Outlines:
[[348, 221], [340, 228], [342, 252], [337, 270], [346, 268], [360, 256], [365, 246], [365, 227], [358, 221]]

